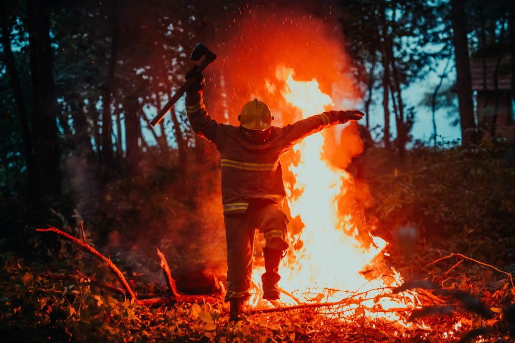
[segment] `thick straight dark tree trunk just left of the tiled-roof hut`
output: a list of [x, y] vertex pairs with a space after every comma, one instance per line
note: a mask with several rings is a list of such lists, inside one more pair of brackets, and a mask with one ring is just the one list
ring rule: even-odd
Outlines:
[[456, 58], [456, 88], [459, 101], [462, 145], [477, 141], [475, 134], [474, 106], [472, 102], [472, 76], [467, 41], [467, 20], [465, 0], [451, 0], [451, 21], [453, 45]]

